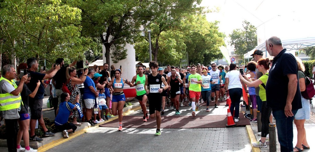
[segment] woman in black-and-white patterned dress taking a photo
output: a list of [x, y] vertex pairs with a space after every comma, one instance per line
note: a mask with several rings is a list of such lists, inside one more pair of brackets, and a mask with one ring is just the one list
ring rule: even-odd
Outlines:
[[[73, 101], [76, 99], [77, 94], [79, 95], [79, 104], [82, 107], [82, 100], [81, 100], [81, 93], [78, 84], [82, 84], [85, 79], [86, 75], [88, 74], [89, 70], [85, 70], [80, 77], [80, 79], [76, 78], [77, 75], [77, 69], [75, 67], [67, 67], [66, 69], [66, 85], [69, 89], [71, 95], [70, 100], [68, 102], [73, 103]], [[73, 113], [73, 124], [76, 126], [81, 126], [81, 123], [77, 122], [77, 117], [79, 117], [79, 112], [77, 110], [72, 110]]]

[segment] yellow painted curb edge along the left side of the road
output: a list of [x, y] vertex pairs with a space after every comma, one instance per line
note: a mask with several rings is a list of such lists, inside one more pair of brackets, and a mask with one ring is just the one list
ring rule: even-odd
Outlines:
[[[141, 106], [140, 106], [140, 105], [139, 105], [138, 107], [133, 108], [133, 109], [129, 109], [128, 111], [125, 111], [125, 112], [123, 113], [123, 116], [129, 115], [131, 112], [134, 112], [134, 111], [137, 111], [137, 110], [140, 110], [140, 109], [141, 109]], [[82, 129], [82, 130], [76, 132], [75, 134], [70, 134], [70, 135], [69, 135], [69, 138], [61, 138], [61, 139], [58, 139], [58, 140], [54, 140], [54, 141], [52, 141], [52, 142], [49, 143], [49, 144], [45, 144], [45, 145], [43, 145], [42, 147], [39, 147], [39, 148], [37, 149], [37, 151], [38, 151], [38, 152], [44, 152], [44, 151], [46, 151], [46, 150], [49, 150], [49, 149], [51, 149], [51, 148], [54, 148], [55, 146], [58, 146], [58, 145], [60, 145], [60, 144], [63, 144], [63, 143], [65, 143], [65, 142], [67, 142], [67, 141], [69, 141], [69, 140], [71, 140], [71, 139], [73, 139], [73, 138], [76, 138], [76, 137], [82, 135], [83, 133], [86, 133], [86, 131], [88, 131], [88, 130], [90, 130], [90, 129], [98, 128], [100, 124], [104, 124], [104, 123], [107, 123], [107, 122], [111, 122], [111, 121], [113, 121], [113, 120], [115, 120], [115, 119], [118, 119], [118, 117], [113, 117], [113, 118], [111, 118], [110, 120], [108, 120], [108, 121], [106, 121], [106, 122], [99, 123], [99, 124], [95, 125], [95, 127], [85, 128], [85, 129]], [[54, 144], [53, 144], [53, 143], [54, 143]]]

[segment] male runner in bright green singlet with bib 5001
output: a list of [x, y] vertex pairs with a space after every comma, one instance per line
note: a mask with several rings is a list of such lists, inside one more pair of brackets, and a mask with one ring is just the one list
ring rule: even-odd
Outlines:
[[[130, 86], [135, 86], [137, 96], [136, 99], [139, 100], [142, 112], [143, 112], [143, 122], [147, 122], [149, 119], [148, 112], [146, 110], [146, 100], [148, 99], [146, 95], [146, 90], [144, 89], [144, 84], [146, 83], [146, 79], [148, 79], [147, 75], [143, 74], [143, 66], [138, 67], [138, 74], [135, 75], [132, 80]], [[135, 83], [135, 84], [134, 84]]]

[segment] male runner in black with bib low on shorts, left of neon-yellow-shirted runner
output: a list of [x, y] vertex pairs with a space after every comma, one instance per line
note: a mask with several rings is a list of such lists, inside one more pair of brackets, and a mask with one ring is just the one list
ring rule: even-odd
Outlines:
[[175, 115], [179, 115], [179, 96], [180, 96], [180, 84], [182, 80], [179, 78], [179, 75], [176, 73], [176, 70], [171, 71], [172, 75], [167, 79], [167, 84], [169, 84], [169, 92], [171, 94], [171, 101], [174, 103], [176, 108]]

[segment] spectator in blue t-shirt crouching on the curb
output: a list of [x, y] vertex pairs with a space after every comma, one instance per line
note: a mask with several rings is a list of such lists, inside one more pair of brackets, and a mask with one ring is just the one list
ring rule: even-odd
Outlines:
[[[68, 118], [70, 116], [70, 112], [73, 110], [77, 110], [77, 106], [79, 105], [80, 95], [76, 95], [73, 102], [70, 101], [70, 95], [66, 92], [63, 92], [61, 95], [62, 102], [59, 106], [59, 112], [57, 117], [55, 118], [55, 125], [58, 130], [63, 130], [63, 138], [69, 138], [69, 132], [74, 133], [77, 129], [73, 123], [68, 122]], [[74, 105], [75, 104], [75, 105]]]

